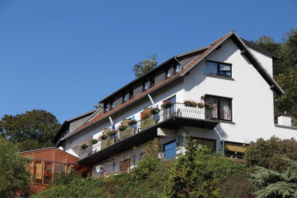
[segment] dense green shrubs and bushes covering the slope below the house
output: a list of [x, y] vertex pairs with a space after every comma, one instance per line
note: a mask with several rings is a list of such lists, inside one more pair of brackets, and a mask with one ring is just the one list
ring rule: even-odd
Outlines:
[[48, 189], [31, 197], [296, 197], [297, 163], [291, 155], [295, 139], [252, 142], [247, 162], [241, 163], [197, 148], [195, 140], [185, 137], [187, 152], [178, 159], [159, 160], [155, 139], [129, 175], [98, 179], [74, 172], [56, 175]]

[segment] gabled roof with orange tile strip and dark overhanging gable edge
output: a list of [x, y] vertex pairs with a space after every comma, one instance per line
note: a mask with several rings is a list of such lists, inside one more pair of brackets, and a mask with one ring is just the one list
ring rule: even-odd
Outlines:
[[[79, 133], [80, 131], [92, 126], [95, 123], [98, 123], [99, 121], [102, 121], [105, 118], [108, 118], [108, 116], [113, 115], [114, 113], [122, 110], [123, 108], [131, 105], [133, 102], [136, 102], [144, 97], [146, 97], [148, 94], [158, 90], [159, 88], [165, 86], [166, 84], [172, 82], [173, 80], [176, 80], [179, 77], [182, 77], [187, 74], [194, 66], [196, 66], [200, 61], [202, 61], [204, 58], [206, 58], [213, 50], [215, 50], [219, 45], [221, 45], [223, 42], [225, 42], [228, 38], [231, 38], [233, 42], [236, 43], [238, 48], [242, 51], [244, 51], [244, 55], [249, 59], [249, 61], [253, 64], [253, 66], [257, 69], [257, 71], [262, 75], [262, 77], [266, 80], [266, 82], [271, 85], [271, 88], [277, 93], [277, 94], [283, 94], [284, 91], [280, 86], [274, 81], [274, 79], [268, 74], [268, 72], [264, 69], [264, 67], [260, 64], [260, 62], [255, 58], [255, 56], [251, 53], [251, 51], [247, 48], [247, 46], [244, 44], [244, 42], [241, 40], [241, 38], [238, 37], [238, 35], [235, 33], [235, 31], [231, 31], [228, 34], [224, 35], [223, 37], [219, 38], [215, 42], [211, 43], [211, 45], [206, 46], [207, 49], [200, 54], [197, 58], [195, 58], [188, 66], [186, 66], [181, 72], [173, 75], [172, 77], [164, 80], [162, 83], [159, 83], [155, 85], [152, 88], [149, 88], [147, 91], [144, 91], [140, 95], [134, 97], [133, 99], [121, 104], [120, 106], [114, 108], [113, 110], [103, 114], [103, 111], [101, 114], [98, 114], [93, 119], [91, 119], [89, 122], [83, 124], [78, 129], [76, 129], [74, 132], [72, 132], [71, 135], [69, 135], [67, 138], [72, 137], [73, 135]], [[173, 57], [174, 58], [174, 57]], [[172, 59], [172, 58], [170, 58]], [[170, 60], [169, 59], [169, 60]], [[168, 60], [168, 61], [169, 61]], [[166, 61], [167, 62], [167, 61]]]

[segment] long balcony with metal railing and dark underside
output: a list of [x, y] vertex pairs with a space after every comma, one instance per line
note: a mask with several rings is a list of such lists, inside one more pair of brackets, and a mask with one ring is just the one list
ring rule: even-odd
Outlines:
[[[181, 126], [192, 126], [204, 129], [214, 129], [218, 121], [205, 119], [204, 108], [188, 107], [183, 103], [174, 103], [168, 109], [147, 119], [137, 121], [112, 137], [100, 140], [79, 152], [78, 164], [93, 165], [110, 158], [114, 153], [127, 151], [134, 146], [143, 144], [157, 137], [157, 128], [178, 129]], [[106, 129], [110, 130], [110, 129]]]

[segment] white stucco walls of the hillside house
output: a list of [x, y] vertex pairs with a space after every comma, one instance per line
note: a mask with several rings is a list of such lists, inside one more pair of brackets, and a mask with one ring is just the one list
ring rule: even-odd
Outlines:
[[[272, 75], [272, 57], [269, 57], [255, 49], [252, 52], [262, 63], [266, 70]], [[286, 128], [274, 125], [273, 92], [268, 83], [249, 63], [240, 50], [228, 39], [222, 44], [219, 50], [214, 50], [206, 60], [225, 62], [232, 64], [232, 78], [218, 77], [213, 75], [204, 75], [202, 72], [205, 61], [200, 62], [189, 74], [173, 81], [169, 85], [155, 91], [151, 94], [155, 104], [159, 107], [162, 101], [176, 95], [176, 102], [182, 103], [185, 99], [193, 99], [200, 102], [200, 97], [204, 94], [232, 98], [232, 122], [220, 122], [213, 130], [194, 127], [184, 128], [192, 137], [200, 137], [216, 140], [216, 150], [219, 151], [220, 141], [232, 141], [240, 143], [249, 143], [263, 137], [269, 139], [272, 135], [281, 138], [297, 137], [297, 128]], [[136, 120], [140, 120], [140, 112], [144, 107], [151, 107], [149, 97], [133, 103], [124, 110], [111, 115], [116, 126], [120, 124], [123, 118], [130, 118], [134, 113]], [[79, 145], [82, 142], [88, 142], [90, 138], [97, 138], [102, 134], [105, 128], [110, 127], [110, 121], [106, 118], [104, 121], [85, 129], [79, 134], [65, 140], [62, 144], [64, 151], [78, 156]], [[177, 129], [178, 134], [184, 133], [184, 129]], [[174, 137], [159, 137], [162, 144], [174, 140]], [[125, 151], [123, 159], [131, 156], [132, 150]], [[106, 164], [108, 160], [98, 162], [105, 166], [107, 172], [112, 172], [112, 167]], [[96, 164], [96, 165], [98, 165]], [[131, 165], [133, 163], [131, 162]], [[117, 167], [115, 171], [119, 171]], [[93, 167], [93, 176], [99, 174]]]

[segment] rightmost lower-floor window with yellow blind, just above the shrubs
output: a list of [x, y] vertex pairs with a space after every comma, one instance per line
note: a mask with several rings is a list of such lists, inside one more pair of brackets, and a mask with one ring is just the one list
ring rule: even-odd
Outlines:
[[243, 158], [248, 144], [224, 141], [224, 152], [227, 157]]

